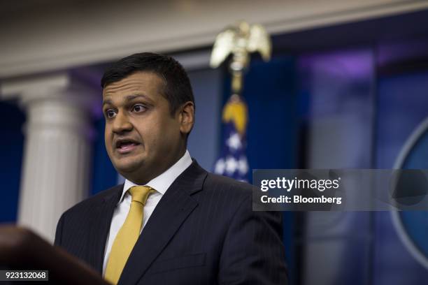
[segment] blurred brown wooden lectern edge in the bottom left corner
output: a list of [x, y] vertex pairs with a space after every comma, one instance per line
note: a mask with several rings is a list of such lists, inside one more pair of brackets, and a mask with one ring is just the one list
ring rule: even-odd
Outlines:
[[0, 269], [48, 270], [49, 282], [43, 284], [108, 284], [78, 258], [16, 226], [0, 226]]

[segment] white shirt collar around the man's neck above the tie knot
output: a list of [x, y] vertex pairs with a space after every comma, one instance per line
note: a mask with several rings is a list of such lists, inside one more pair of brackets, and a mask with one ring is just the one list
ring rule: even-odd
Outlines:
[[[153, 178], [144, 186], [149, 186], [155, 189], [157, 192], [164, 195], [166, 190], [171, 186], [171, 184], [177, 179], [177, 177], [186, 170], [190, 164], [192, 164], [192, 157], [188, 150], [186, 150], [185, 154], [181, 159], [179, 159], [176, 163], [173, 164], [170, 168], [168, 168], [161, 175]], [[129, 180], [125, 180], [122, 190], [122, 196], [120, 196], [119, 203], [122, 202], [125, 193], [127, 193], [128, 189], [134, 186], [138, 186], [134, 182]], [[118, 204], [119, 204], [118, 203]]]

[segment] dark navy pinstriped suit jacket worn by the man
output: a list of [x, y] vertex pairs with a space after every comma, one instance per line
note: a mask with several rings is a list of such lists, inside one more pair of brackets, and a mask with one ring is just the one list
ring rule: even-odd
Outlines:
[[[62, 214], [55, 244], [101, 274], [123, 185]], [[119, 284], [287, 284], [280, 212], [253, 212], [252, 187], [196, 161], [164, 194]]]

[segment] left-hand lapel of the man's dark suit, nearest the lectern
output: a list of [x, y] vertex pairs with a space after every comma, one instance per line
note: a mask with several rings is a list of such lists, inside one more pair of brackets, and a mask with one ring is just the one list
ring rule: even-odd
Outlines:
[[110, 231], [111, 219], [115, 206], [119, 202], [122, 194], [123, 184], [106, 190], [106, 196], [97, 205], [97, 210], [92, 220], [90, 228], [90, 256], [89, 261], [92, 266], [101, 274], [103, 271], [104, 250], [106, 247], [107, 235]]

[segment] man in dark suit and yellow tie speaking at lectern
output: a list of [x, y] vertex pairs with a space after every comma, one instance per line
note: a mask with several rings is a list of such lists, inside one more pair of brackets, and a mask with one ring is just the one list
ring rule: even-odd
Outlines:
[[252, 187], [207, 173], [186, 150], [187, 74], [133, 54], [101, 80], [105, 142], [122, 185], [66, 211], [55, 244], [113, 284], [287, 284], [280, 214], [252, 211]]

